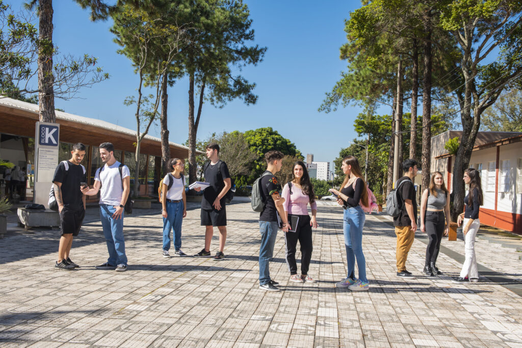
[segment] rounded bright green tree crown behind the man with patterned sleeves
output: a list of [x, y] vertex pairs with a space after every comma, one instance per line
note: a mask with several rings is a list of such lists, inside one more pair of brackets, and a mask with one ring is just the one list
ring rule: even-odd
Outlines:
[[272, 127], [258, 128], [255, 130], [245, 131], [245, 140], [252, 152], [257, 156], [253, 163], [252, 172], [248, 182], [253, 182], [259, 175], [263, 174], [266, 169], [266, 161], [264, 155], [270, 150], [278, 150], [300, 160], [304, 157], [293, 142], [287, 138], [283, 138], [277, 130]]

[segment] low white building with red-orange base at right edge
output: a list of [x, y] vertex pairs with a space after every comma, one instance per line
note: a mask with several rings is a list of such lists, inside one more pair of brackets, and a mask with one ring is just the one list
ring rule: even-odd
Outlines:
[[[446, 187], [453, 190], [455, 156], [444, 148], [462, 131], [449, 130], [432, 138], [431, 172], [444, 174]], [[522, 133], [479, 132], [469, 166], [480, 171], [484, 205], [482, 224], [522, 234]]]

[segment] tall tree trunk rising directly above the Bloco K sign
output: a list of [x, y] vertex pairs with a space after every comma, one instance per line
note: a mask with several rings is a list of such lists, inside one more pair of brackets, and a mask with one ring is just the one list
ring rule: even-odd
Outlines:
[[41, 122], [56, 122], [54, 113], [53, 75], [53, 1], [40, 0], [40, 41], [43, 45], [38, 53], [38, 105]]

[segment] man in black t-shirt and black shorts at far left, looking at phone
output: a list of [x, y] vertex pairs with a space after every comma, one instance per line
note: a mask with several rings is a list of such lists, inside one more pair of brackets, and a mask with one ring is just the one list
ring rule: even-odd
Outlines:
[[81, 142], [73, 145], [70, 160], [62, 161], [56, 167], [53, 177], [54, 196], [60, 211], [62, 237], [58, 247], [58, 260], [54, 267], [72, 270], [77, 267], [69, 257], [73, 245], [73, 236], [80, 232], [85, 217], [85, 195], [81, 193], [81, 183], [86, 183], [85, 167], [81, 161], [85, 156], [85, 145]]

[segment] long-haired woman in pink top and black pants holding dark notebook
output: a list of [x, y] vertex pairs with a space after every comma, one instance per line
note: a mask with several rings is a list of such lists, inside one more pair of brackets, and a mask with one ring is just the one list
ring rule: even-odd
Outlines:
[[[284, 225], [284, 242], [286, 244], [286, 259], [290, 270], [290, 280], [296, 283], [314, 282], [308, 275], [310, 260], [312, 259], [312, 226], [317, 227], [315, 215], [314, 189], [310, 182], [306, 165], [297, 161], [293, 166], [293, 179], [284, 185], [281, 197], [284, 198], [283, 208], [287, 214], [289, 224]], [[312, 218], [308, 214], [307, 205], [312, 208]], [[289, 228], [290, 227], [290, 228]], [[301, 275], [297, 274], [295, 252], [297, 242], [301, 245]]]

